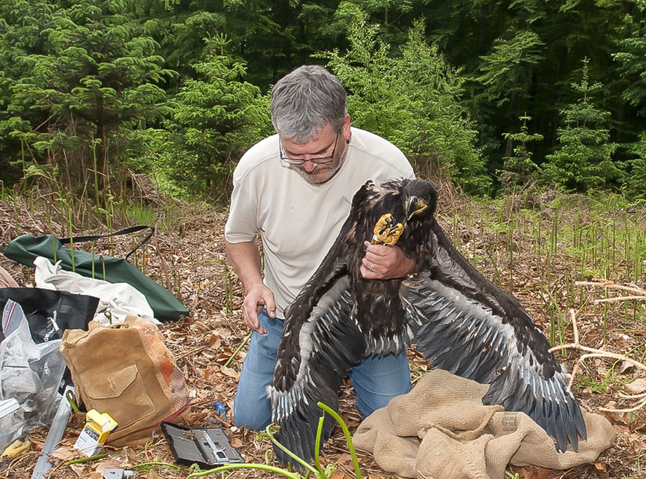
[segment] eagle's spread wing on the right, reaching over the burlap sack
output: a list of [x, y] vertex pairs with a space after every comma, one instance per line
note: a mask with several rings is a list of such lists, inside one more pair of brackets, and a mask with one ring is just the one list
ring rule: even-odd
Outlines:
[[433, 267], [405, 281], [408, 321], [417, 348], [434, 367], [491, 382], [485, 404], [523, 411], [556, 438], [578, 449], [587, 437], [579, 405], [550, 344], [521, 305], [486, 280], [435, 223]]

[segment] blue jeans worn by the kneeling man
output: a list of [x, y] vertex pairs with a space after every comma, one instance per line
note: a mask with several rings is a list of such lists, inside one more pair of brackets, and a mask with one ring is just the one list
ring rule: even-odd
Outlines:
[[[269, 318], [266, 310], [258, 315], [258, 320], [267, 334], [253, 332], [233, 400], [236, 425], [246, 424], [256, 431], [271, 423], [267, 386], [274, 375], [283, 326], [283, 320]], [[397, 356], [368, 356], [350, 371], [349, 376], [357, 393], [357, 408], [364, 418], [411, 389], [410, 369], [403, 352]]]

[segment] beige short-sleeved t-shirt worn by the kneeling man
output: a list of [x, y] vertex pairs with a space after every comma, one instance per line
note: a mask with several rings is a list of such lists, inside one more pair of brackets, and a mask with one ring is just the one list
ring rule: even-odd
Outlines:
[[274, 293], [278, 318], [334, 243], [361, 185], [402, 177], [414, 174], [401, 150], [359, 128], [352, 128], [343, 166], [323, 185], [307, 183], [280, 160], [278, 135], [249, 148], [233, 173], [224, 233], [229, 243], [241, 243], [260, 231], [264, 282]]

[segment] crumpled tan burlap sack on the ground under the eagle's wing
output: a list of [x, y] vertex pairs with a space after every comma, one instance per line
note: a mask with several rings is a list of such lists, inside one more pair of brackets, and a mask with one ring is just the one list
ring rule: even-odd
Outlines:
[[568, 469], [594, 462], [614, 441], [599, 414], [583, 411], [588, 440], [579, 452], [557, 453], [554, 441], [525, 413], [485, 406], [487, 385], [440, 369], [425, 374], [408, 394], [371, 414], [353, 437], [379, 467], [404, 477], [504, 478], [508, 464]]

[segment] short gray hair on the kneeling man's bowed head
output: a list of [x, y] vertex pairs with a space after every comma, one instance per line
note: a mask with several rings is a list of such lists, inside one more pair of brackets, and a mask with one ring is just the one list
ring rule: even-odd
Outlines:
[[319, 65], [299, 66], [271, 90], [271, 122], [296, 143], [307, 143], [328, 124], [339, 133], [346, 113], [346, 89]]

